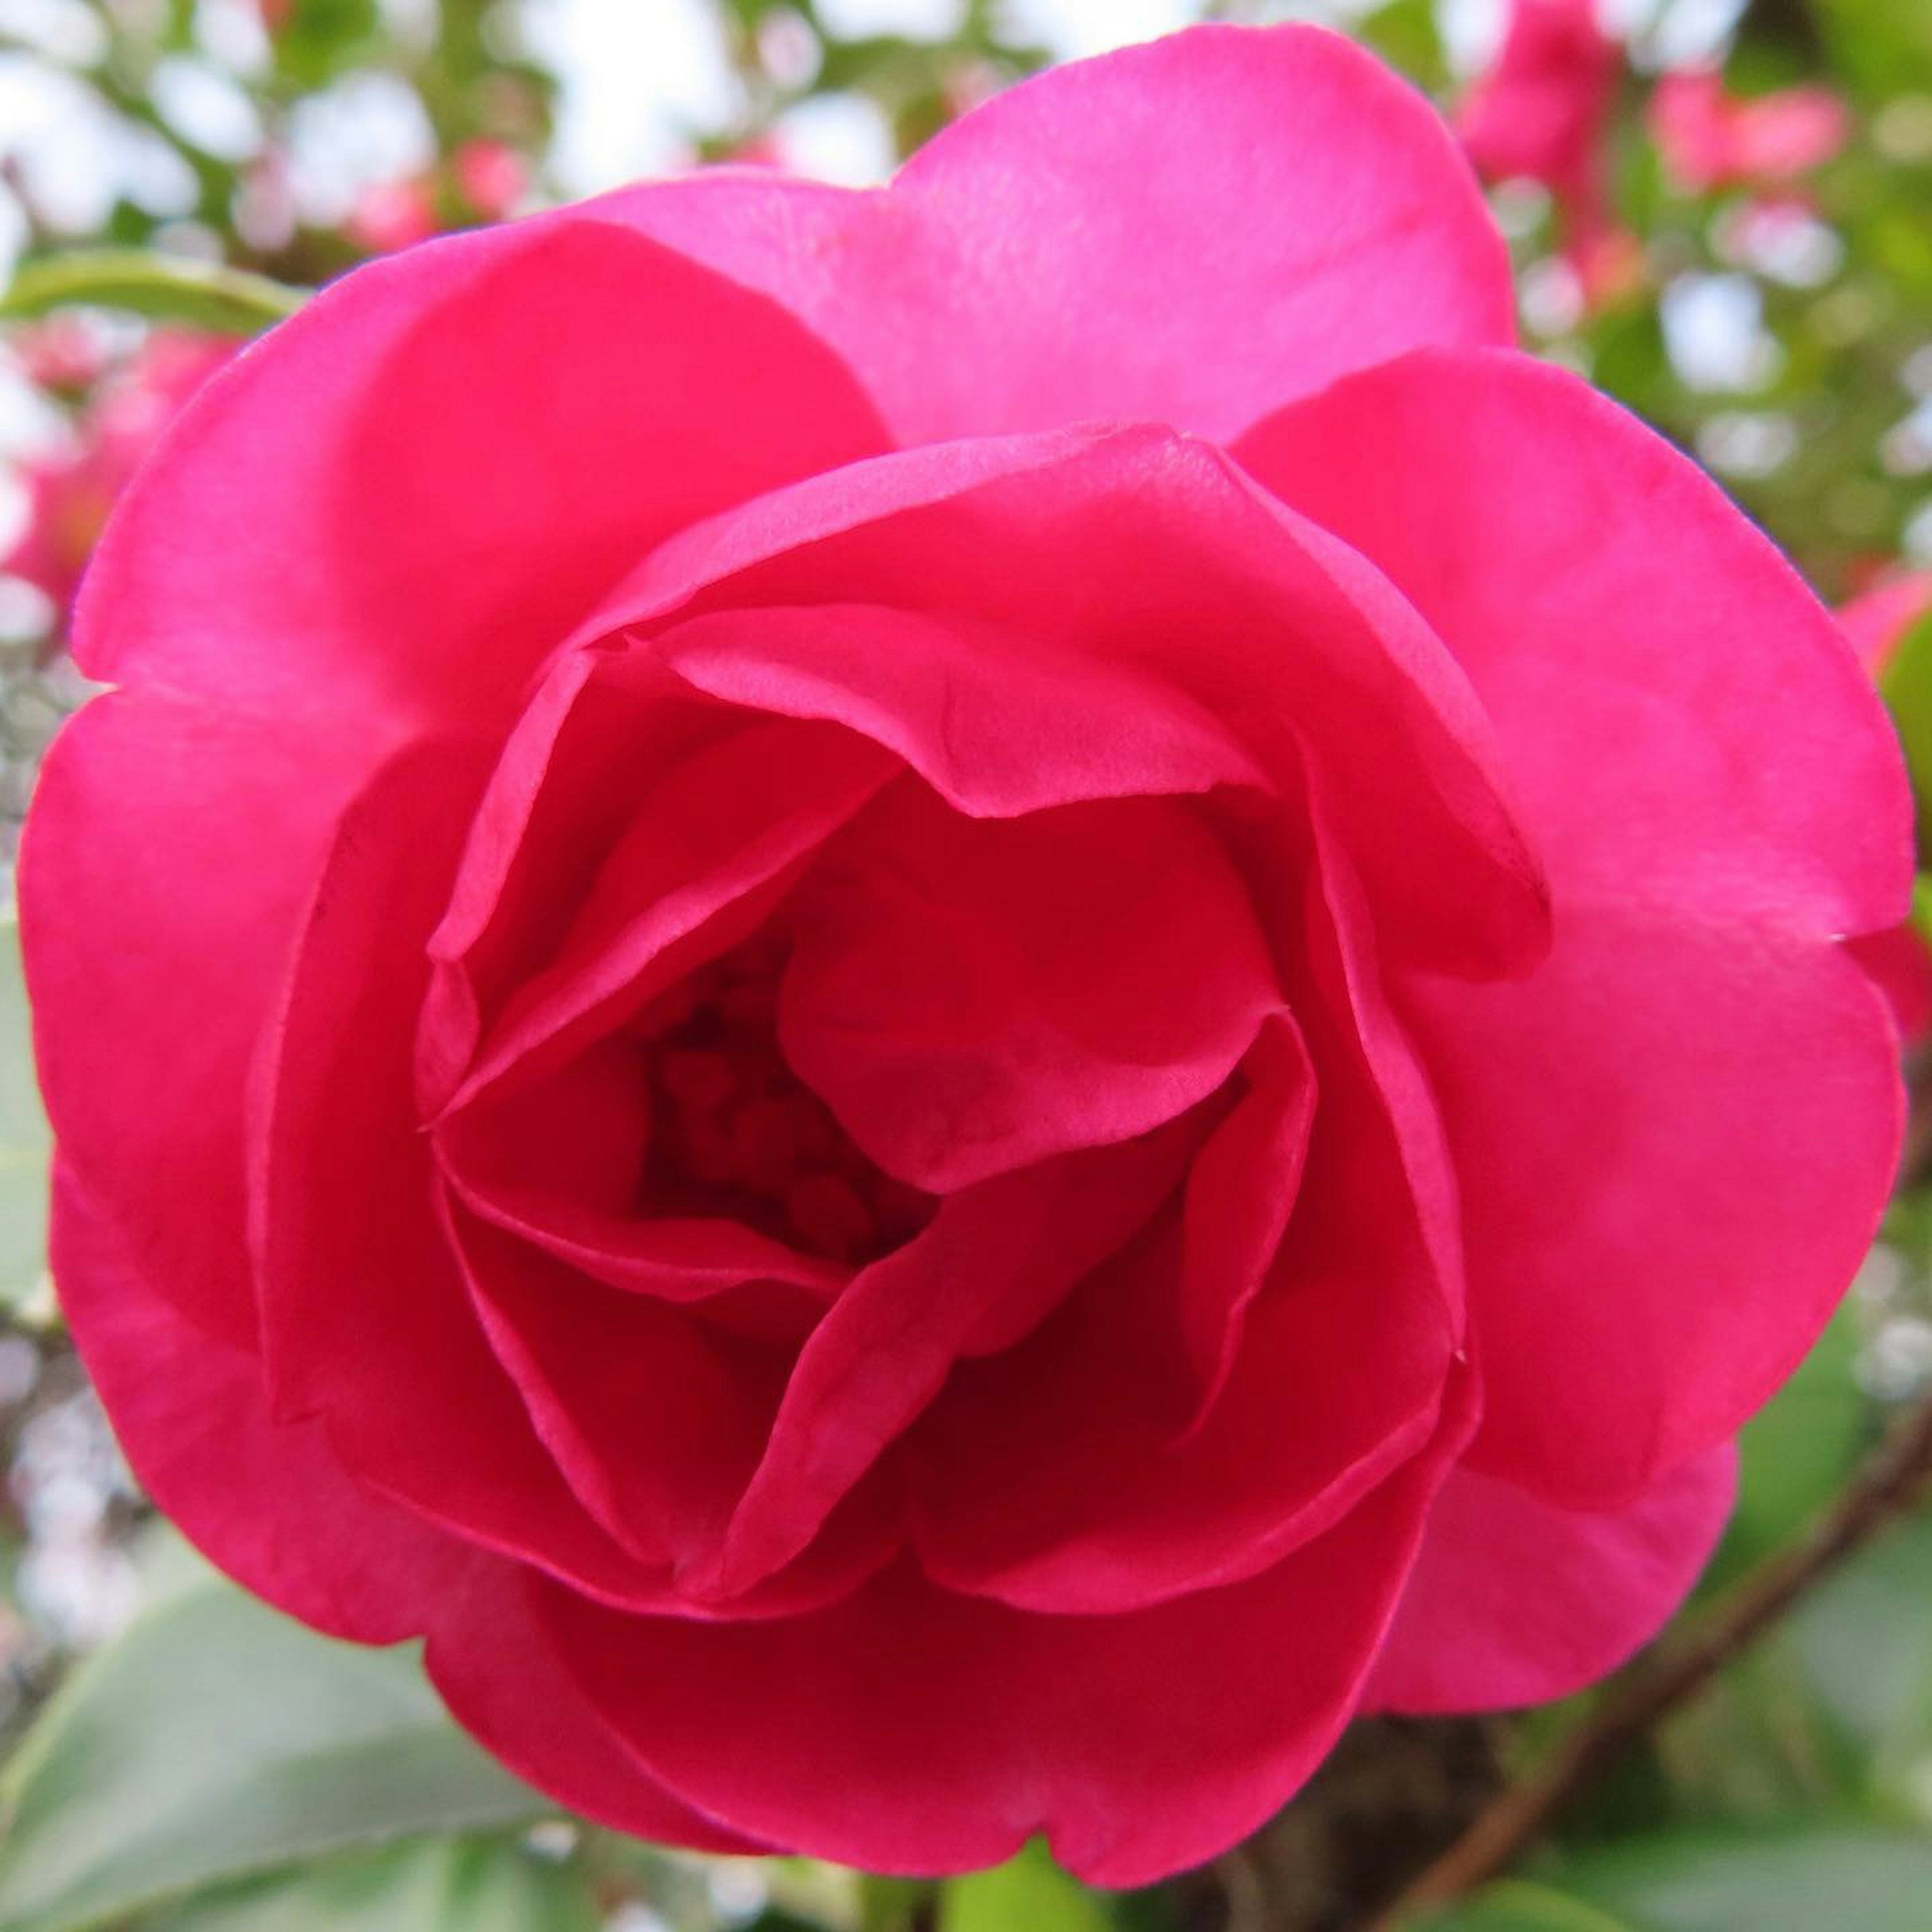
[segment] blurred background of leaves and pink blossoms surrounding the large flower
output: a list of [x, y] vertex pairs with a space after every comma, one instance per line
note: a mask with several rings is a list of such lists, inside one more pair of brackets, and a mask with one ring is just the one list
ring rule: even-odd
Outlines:
[[[1845, 611], [1932, 792], [1928, 0], [0, 0], [0, 856], [85, 690], [62, 639], [116, 493], [303, 288], [697, 160], [877, 180], [1041, 64], [1196, 17], [1323, 19], [1443, 104], [1526, 338], [1690, 450]], [[1907, 929], [1872, 960], [1915, 1090], [1928, 958]], [[278, 1619], [151, 1519], [44, 1277], [25, 1024], [4, 923], [0, 1932], [1339, 1932], [1615, 1694], [1362, 1723], [1271, 1830], [1130, 1897], [1039, 1851], [931, 1888], [558, 1818], [413, 1656]], [[1915, 1119], [1878, 1248], [1747, 1432], [1690, 1629], [1932, 1383], [1926, 1150]], [[1428, 1922], [1928, 1932], [1924, 1499]]]

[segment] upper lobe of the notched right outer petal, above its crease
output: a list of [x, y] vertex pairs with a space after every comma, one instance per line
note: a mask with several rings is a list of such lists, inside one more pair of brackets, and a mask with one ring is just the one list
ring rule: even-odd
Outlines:
[[1878, 699], [1791, 566], [1633, 415], [1522, 355], [1432, 352], [1236, 456], [1457, 655], [1559, 898], [1820, 937], [1903, 918]]

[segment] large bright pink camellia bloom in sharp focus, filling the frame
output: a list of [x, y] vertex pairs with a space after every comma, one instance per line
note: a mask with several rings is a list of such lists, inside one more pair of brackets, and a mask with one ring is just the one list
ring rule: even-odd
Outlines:
[[891, 1870], [1625, 1658], [1884, 1202], [1911, 829], [1511, 305], [1418, 95], [1206, 27], [240, 357], [23, 852], [158, 1505], [576, 1810]]

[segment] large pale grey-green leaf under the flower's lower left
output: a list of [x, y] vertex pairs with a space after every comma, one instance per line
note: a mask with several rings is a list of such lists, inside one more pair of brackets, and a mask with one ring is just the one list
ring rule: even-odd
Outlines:
[[332, 1642], [209, 1571], [73, 1673], [0, 1801], [0, 1932], [77, 1932], [321, 1853], [554, 1810], [456, 1729], [413, 1646]]

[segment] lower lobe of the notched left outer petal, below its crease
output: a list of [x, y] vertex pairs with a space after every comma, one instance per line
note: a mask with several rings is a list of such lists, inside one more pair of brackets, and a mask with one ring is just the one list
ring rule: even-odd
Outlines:
[[336, 813], [381, 726], [267, 730], [112, 692], [48, 753], [21, 844], [41, 1088], [149, 1293], [255, 1347], [243, 1105]]

